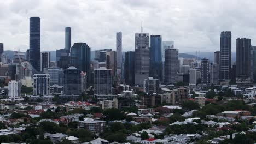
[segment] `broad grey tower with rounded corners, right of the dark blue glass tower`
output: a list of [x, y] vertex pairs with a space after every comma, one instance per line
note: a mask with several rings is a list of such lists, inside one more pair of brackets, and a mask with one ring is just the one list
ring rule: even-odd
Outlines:
[[165, 50], [165, 79], [166, 85], [173, 85], [178, 81], [179, 72], [179, 50], [166, 49]]

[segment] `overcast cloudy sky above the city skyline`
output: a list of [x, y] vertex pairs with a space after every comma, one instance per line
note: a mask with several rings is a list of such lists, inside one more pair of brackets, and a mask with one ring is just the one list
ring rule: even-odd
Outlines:
[[88, 43], [92, 50], [115, 50], [115, 33], [123, 32], [123, 51], [134, 50], [135, 33], [161, 34], [174, 40], [180, 52], [218, 51], [220, 31], [235, 39], [256, 39], [256, 1], [236, 0], [70, 0], [0, 1], [0, 42], [5, 50], [26, 51], [29, 17], [41, 17], [41, 51], [65, 46], [65, 27], [72, 27], [72, 43]]

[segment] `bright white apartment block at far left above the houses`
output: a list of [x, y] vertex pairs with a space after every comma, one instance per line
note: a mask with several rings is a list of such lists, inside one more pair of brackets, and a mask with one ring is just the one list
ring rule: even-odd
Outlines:
[[17, 99], [20, 95], [21, 83], [18, 81], [10, 81], [8, 85], [8, 98]]

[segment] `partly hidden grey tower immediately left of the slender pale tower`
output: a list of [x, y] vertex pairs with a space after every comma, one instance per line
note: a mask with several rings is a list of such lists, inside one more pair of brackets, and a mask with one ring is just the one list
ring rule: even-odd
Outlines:
[[117, 73], [117, 52], [115, 51], [107, 51], [106, 52], [106, 64], [107, 69], [111, 69], [112, 76], [116, 76]]

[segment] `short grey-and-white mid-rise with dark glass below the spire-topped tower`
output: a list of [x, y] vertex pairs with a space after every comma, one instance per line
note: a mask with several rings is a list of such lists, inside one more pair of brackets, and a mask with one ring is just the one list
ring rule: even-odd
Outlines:
[[145, 93], [149, 93], [150, 91], [154, 93], [158, 93], [159, 90], [159, 80], [154, 79], [153, 77], [148, 77], [148, 79], [144, 80], [143, 83], [143, 91]]

